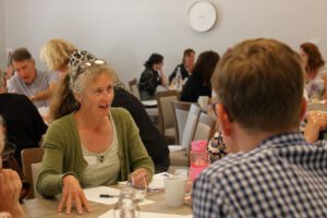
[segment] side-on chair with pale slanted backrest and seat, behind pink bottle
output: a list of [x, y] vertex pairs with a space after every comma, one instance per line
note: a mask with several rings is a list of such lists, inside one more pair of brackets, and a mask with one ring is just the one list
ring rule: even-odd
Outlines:
[[170, 150], [170, 165], [171, 166], [190, 166], [189, 153], [191, 148], [191, 142], [194, 136], [196, 123], [199, 116], [199, 107], [191, 105], [187, 119], [184, 125], [182, 143], [181, 145], [169, 145]]

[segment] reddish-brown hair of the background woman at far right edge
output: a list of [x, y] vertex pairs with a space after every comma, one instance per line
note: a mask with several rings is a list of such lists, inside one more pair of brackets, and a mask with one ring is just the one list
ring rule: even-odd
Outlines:
[[300, 47], [307, 55], [307, 64], [305, 66], [305, 70], [307, 72], [315, 71], [325, 64], [322, 53], [316, 45], [305, 43], [302, 44]]

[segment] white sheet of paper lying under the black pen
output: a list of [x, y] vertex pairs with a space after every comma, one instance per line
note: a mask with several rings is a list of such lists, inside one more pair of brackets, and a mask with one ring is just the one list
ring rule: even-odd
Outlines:
[[[119, 196], [120, 190], [107, 187], [107, 186], [97, 186], [97, 187], [84, 189], [84, 194], [88, 201], [97, 202], [106, 205], [112, 205], [118, 202], [119, 197], [100, 197], [100, 194]], [[144, 199], [142, 203], [138, 203], [138, 205], [147, 205], [153, 203], [155, 202], [149, 199]]]

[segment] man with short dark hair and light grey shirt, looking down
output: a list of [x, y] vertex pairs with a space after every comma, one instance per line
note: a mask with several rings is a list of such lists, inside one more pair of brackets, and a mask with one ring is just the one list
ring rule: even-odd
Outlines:
[[8, 82], [8, 92], [26, 95], [34, 105], [47, 107], [58, 82], [53, 72], [35, 69], [35, 61], [26, 48], [13, 51], [11, 64], [15, 75]]

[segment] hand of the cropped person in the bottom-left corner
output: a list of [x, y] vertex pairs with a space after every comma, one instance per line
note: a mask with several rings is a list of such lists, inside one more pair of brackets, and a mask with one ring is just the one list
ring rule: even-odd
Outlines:
[[12, 217], [25, 217], [19, 203], [22, 191], [21, 178], [14, 170], [0, 171], [0, 211], [8, 211]]

